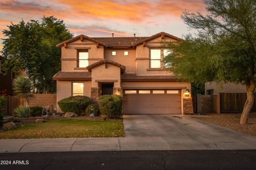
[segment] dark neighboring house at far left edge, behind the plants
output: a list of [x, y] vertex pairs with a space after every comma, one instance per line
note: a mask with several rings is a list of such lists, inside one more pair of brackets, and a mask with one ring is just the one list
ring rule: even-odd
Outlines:
[[13, 95], [12, 80], [15, 78], [15, 74], [12, 70], [7, 71], [7, 74], [5, 74], [2, 62], [3, 58], [0, 56], [0, 95]]

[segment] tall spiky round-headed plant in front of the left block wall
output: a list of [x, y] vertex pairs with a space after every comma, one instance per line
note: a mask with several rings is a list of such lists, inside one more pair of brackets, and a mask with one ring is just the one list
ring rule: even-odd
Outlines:
[[33, 88], [33, 83], [29, 78], [18, 77], [12, 82], [14, 95], [21, 100], [25, 100], [27, 104], [29, 100], [33, 98], [31, 89]]

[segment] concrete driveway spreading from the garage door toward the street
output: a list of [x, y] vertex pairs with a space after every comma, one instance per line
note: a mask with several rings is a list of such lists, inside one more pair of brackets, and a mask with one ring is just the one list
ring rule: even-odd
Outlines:
[[170, 150], [256, 149], [252, 135], [182, 115], [124, 115], [124, 129], [127, 139], [150, 145], [147, 139], [151, 137]]

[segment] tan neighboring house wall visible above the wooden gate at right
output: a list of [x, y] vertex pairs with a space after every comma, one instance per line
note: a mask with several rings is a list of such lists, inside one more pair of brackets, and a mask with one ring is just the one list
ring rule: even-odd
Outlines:
[[206, 82], [204, 84], [205, 95], [215, 95], [219, 93], [246, 93], [246, 86], [243, 84], [225, 83], [217, 84], [216, 82]]

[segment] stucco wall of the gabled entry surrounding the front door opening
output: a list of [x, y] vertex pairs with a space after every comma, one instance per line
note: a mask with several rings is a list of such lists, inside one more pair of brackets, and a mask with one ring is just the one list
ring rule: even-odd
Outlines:
[[[105, 64], [101, 64], [97, 67], [92, 69], [92, 86], [91, 87], [98, 87], [97, 80], [117, 80], [114, 82], [114, 87], [120, 87], [121, 81], [121, 71], [120, 67], [115, 66], [113, 64], [107, 64], [107, 68]], [[96, 81], [95, 81], [96, 80]]]

